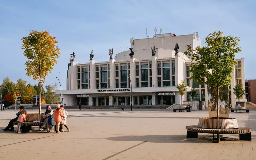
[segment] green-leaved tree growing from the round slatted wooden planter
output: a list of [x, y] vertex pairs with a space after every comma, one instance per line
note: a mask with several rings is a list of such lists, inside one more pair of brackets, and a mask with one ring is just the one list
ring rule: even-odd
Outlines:
[[[237, 63], [235, 54], [241, 52], [238, 47], [238, 37], [223, 36], [223, 32], [215, 31], [205, 38], [206, 46], [197, 46], [194, 50], [191, 45], [187, 46], [185, 55], [191, 56], [190, 65], [191, 79], [200, 85], [214, 85], [217, 88], [217, 118], [219, 119], [219, 87], [229, 86], [231, 73]], [[203, 78], [207, 78], [203, 81]]]

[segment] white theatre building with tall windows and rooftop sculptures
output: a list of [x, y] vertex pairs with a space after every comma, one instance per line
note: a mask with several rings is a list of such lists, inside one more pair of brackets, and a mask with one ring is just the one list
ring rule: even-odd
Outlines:
[[[181, 96], [175, 85], [185, 79], [188, 86], [187, 91], [191, 88], [196, 89], [197, 96], [194, 100], [205, 101], [207, 108], [207, 87], [190, 80], [191, 59], [183, 55], [186, 45], [190, 44], [193, 48], [201, 46], [201, 38], [197, 35], [176, 36], [169, 33], [156, 34], [153, 38], [131, 38], [131, 48], [134, 51], [132, 58], [129, 55], [131, 51], [127, 50], [116, 54], [115, 58], [109, 58], [107, 62], [90, 60], [88, 63], [79, 63], [71, 61], [67, 70], [67, 90], [62, 90], [63, 104], [75, 106], [80, 102], [82, 106], [112, 106], [113, 104], [130, 106], [132, 102], [132, 106], [171, 106], [181, 103]], [[173, 50], [177, 43], [178, 54]], [[156, 51], [154, 56], [152, 56], [151, 50], [153, 46]], [[242, 63], [239, 64], [242, 77], [244, 61], [241, 60]], [[235, 76], [233, 77], [230, 87], [232, 106], [235, 105], [233, 88], [236, 83]], [[130, 96], [130, 80], [132, 98]], [[240, 80], [238, 81], [240, 82]], [[243, 78], [243, 86], [245, 86], [244, 83]], [[60, 94], [60, 90], [57, 90], [56, 94]], [[191, 101], [187, 92], [182, 97], [182, 101], [188, 101], [186, 104]]]

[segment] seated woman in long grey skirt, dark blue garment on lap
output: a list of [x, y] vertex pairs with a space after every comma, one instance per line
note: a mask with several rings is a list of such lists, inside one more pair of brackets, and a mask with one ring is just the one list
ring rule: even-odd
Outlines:
[[43, 130], [46, 129], [47, 133], [51, 133], [54, 131], [54, 126], [55, 126], [55, 122], [54, 122], [54, 114], [53, 114], [53, 110], [51, 109], [51, 106], [47, 106], [46, 107], [46, 111], [43, 114], [43, 126], [41, 128], [39, 128], [39, 130]]

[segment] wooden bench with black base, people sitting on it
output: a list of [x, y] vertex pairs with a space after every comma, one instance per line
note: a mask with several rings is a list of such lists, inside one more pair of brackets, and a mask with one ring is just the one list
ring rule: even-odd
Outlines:
[[[34, 122], [40, 121], [40, 122]], [[17, 125], [17, 122], [13, 122], [14, 125]], [[26, 116], [26, 122], [22, 123], [22, 132], [26, 133], [32, 130], [32, 126], [42, 126], [43, 125], [43, 113], [28, 113]]]

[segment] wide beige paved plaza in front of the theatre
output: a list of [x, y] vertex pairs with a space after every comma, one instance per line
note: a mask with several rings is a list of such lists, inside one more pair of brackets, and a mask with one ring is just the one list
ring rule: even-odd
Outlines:
[[[253, 128], [252, 141], [212, 143], [186, 138], [207, 111], [67, 110], [70, 132], [3, 131], [18, 111], [0, 111], [0, 159], [171, 160], [256, 159], [256, 110], [230, 113], [239, 126]], [[38, 113], [38, 110], [28, 113]], [[14, 129], [16, 126], [14, 126]], [[209, 134], [201, 134], [205, 136]], [[237, 135], [225, 135], [239, 139]]]

